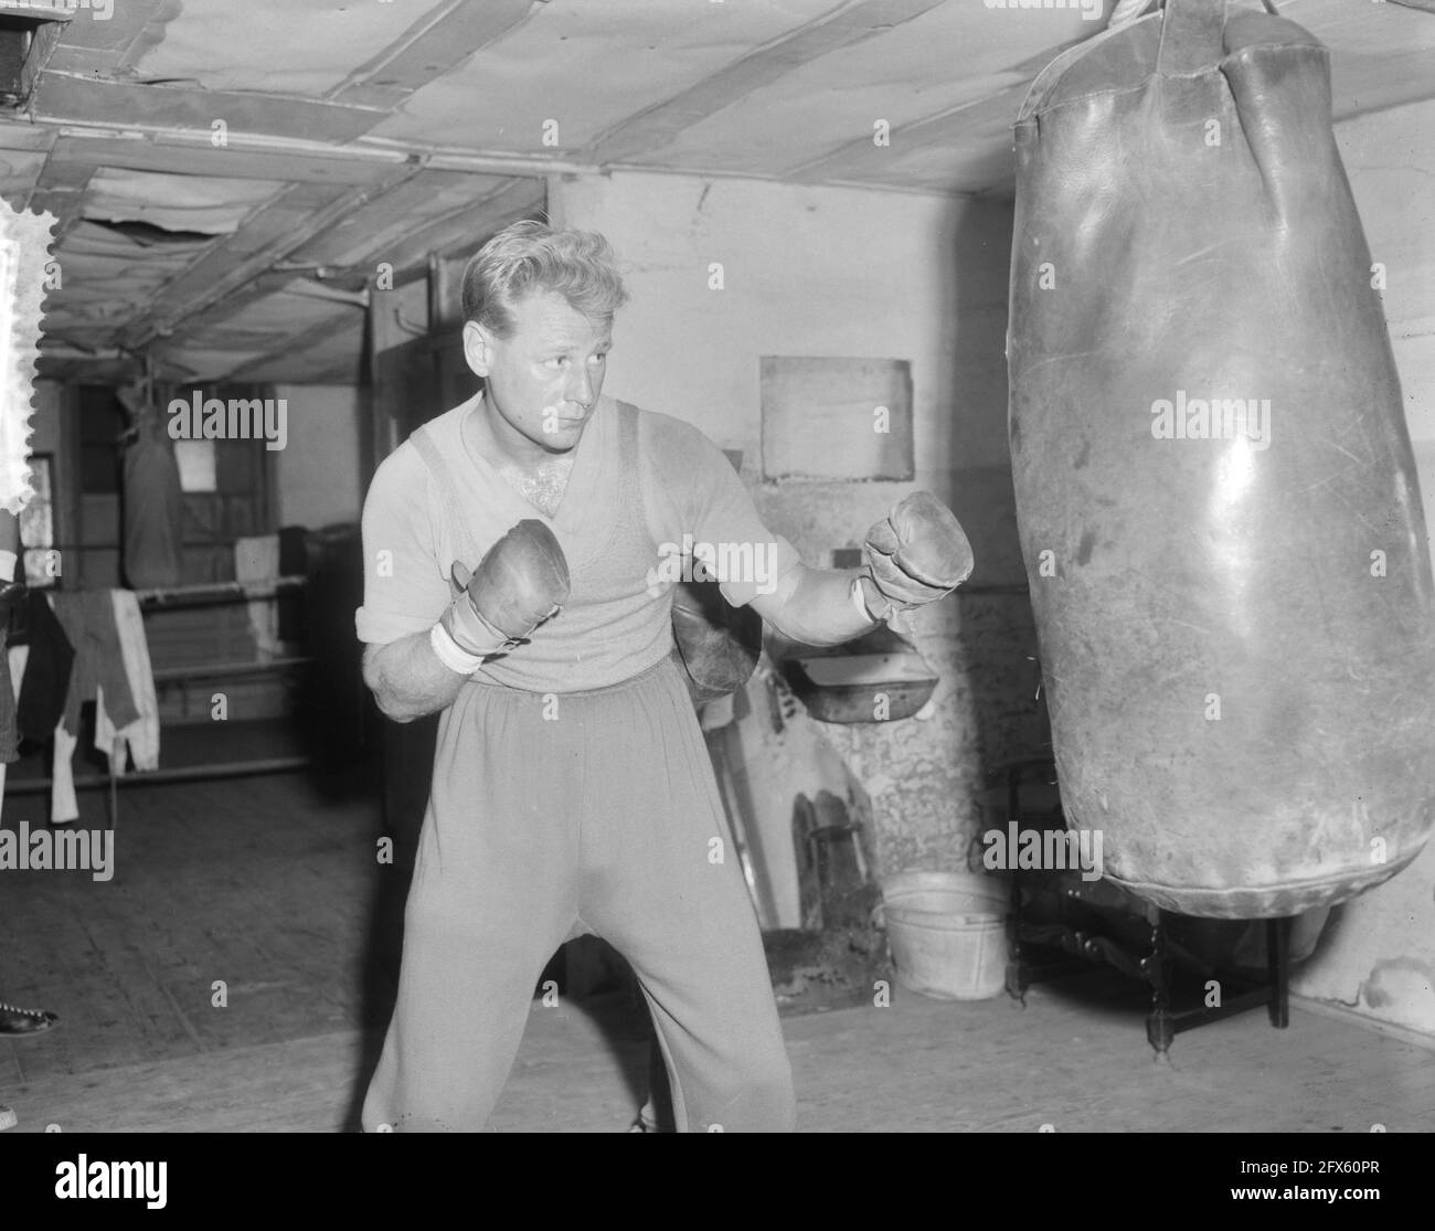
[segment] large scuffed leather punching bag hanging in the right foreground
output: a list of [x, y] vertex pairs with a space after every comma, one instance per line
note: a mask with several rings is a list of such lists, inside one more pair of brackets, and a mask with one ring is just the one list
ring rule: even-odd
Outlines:
[[1168, 910], [1293, 915], [1435, 809], [1432, 584], [1326, 49], [1167, 0], [1016, 123], [1010, 445], [1068, 822]]

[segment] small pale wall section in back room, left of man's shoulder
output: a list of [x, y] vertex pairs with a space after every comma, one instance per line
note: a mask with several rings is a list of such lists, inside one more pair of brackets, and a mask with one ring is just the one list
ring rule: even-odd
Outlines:
[[310, 529], [357, 521], [363, 502], [359, 430], [364, 390], [331, 385], [278, 385], [288, 403], [288, 442], [277, 451], [280, 525]]

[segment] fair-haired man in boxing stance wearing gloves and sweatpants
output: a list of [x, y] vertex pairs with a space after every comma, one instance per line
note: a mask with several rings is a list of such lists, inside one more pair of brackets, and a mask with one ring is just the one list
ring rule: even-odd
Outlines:
[[396, 449], [363, 512], [364, 680], [392, 719], [443, 712], [363, 1126], [481, 1129], [544, 964], [596, 933], [643, 987], [677, 1126], [791, 1129], [659, 548], [761, 545], [732, 558], [765, 575], [719, 575], [728, 601], [835, 644], [966, 580], [966, 537], [917, 494], [874, 527], [862, 570], [805, 567], [706, 436], [601, 396], [626, 291], [600, 235], [517, 222], [462, 294], [484, 392]]

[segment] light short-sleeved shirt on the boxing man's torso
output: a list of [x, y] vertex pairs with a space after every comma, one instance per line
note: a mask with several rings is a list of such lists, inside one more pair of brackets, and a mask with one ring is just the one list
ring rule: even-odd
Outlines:
[[[530, 646], [479, 673], [514, 687], [573, 692], [639, 674], [672, 648], [673, 584], [713, 578], [729, 603], [743, 605], [775, 590], [798, 562], [792, 545], [763, 525], [722, 451], [680, 419], [630, 412], [637, 448], [629, 456], [620, 405], [600, 399], [550, 518], [469, 445], [464, 422], [481, 413], [488, 410], [479, 395], [426, 426], [448, 463], [451, 496], [413, 440], [379, 466], [363, 509], [359, 640], [387, 644], [426, 633], [452, 601], [453, 561], [476, 567], [524, 518], [552, 529], [574, 591]], [[640, 532], [617, 532], [629, 521]]]

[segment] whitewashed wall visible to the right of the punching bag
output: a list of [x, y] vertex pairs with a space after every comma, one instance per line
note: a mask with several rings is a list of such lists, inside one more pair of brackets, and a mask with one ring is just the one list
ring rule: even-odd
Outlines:
[[[1425, 519], [1435, 527], [1435, 103], [1340, 125], [1372, 260], [1386, 267], [1385, 311], [1405, 392]], [[1435, 561], [1435, 545], [1432, 545]], [[1435, 772], [1435, 766], [1426, 766]], [[1395, 877], [1333, 912], [1293, 990], [1435, 1034], [1435, 842]]]

